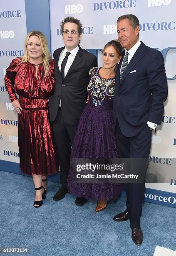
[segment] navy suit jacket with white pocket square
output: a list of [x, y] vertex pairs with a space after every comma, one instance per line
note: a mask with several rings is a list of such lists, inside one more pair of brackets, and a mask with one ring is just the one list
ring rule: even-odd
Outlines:
[[140, 133], [147, 121], [161, 125], [167, 78], [161, 52], [141, 42], [120, 82], [124, 54], [115, 77], [114, 127], [118, 119], [124, 136], [132, 137]]

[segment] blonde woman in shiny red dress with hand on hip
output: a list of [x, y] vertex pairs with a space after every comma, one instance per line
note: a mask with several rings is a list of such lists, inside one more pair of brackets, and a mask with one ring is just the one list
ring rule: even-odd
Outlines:
[[48, 117], [48, 100], [55, 84], [54, 61], [40, 31], [27, 34], [24, 56], [13, 59], [6, 72], [5, 86], [18, 112], [20, 168], [32, 175], [34, 207], [40, 207], [46, 197], [47, 175], [57, 173]]

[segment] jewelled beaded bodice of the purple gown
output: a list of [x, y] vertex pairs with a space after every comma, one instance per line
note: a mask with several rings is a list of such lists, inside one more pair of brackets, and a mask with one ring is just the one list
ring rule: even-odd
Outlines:
[[89, 85], [87, 90], [89, 92], [89, 101], [94, 106], [101, 106], [104, 104], [112, 105], [112, 98], [114, 97], [115, 78], [106, 79], [100, 77], [99, 70], [101, 68], [94, 67], [89, 71]]

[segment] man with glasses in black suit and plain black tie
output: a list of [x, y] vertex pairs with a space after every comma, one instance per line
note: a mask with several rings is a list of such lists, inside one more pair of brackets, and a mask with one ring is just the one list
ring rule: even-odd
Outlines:
[[[56, 49], [53, 54], [55, 92], [50, 97], [49, 112], [53, 122], [62, 186], [53, 200], [61, 200], [68, 192], [71, 144], [87, 101], [89, 70], [97, 66], [96, 56], [79, 46], [82, 36], [81, 21], [67, 17], [60, 26], [65, 46]], [[85, 198], [76, 198], [75, 201], [77, 205], [83, 205], [85, 202]]]

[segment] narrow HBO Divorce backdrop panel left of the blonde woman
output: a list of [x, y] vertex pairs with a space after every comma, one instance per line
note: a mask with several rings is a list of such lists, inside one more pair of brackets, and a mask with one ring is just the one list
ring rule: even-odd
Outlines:
[[25, 0], [0, 5], [0, 159], [19, 163], [17, 113], [4, 84], [5, 69], [23, 55], [26, 37]]

